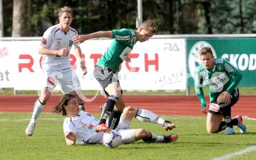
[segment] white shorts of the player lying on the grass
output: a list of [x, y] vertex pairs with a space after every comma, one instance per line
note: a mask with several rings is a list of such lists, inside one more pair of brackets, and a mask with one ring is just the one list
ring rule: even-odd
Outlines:
[[134, 139], [134, 129], [129, 129], [131, 125], [130, 121], [126, 121], [122, 117], [118, 123], [116, 130], [121, 134], [123, 143], [132, 143]]

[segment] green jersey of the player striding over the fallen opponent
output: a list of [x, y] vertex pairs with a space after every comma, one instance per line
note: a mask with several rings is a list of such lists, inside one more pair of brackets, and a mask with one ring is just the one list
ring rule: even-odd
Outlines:
[[113, 41], [111, 46], [106, 50], [101, 59], [98, 60], [97, 65], [108, 67], [119, 72], [119, 66], [128, 57], [137, 42], [135, 30], [113, 30]]

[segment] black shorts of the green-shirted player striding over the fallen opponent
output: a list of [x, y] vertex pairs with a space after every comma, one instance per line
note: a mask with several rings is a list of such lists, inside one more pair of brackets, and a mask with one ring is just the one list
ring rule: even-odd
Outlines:
[[[111, 68], [108, 67], [101, 67], [98, 65], [95, 65], [94, 67], [94, 71], [93, 71], [93, 76], [94, 78], [99, 82], [99, 84], [101, 85], [101, 87], [104, 89], [113, 83], [113, 82], [119, 82], [118, 80], [118, 72], [113, 71]], [[123, 91], [121, 90], [121, 93], [123, 93]], [[106, 93], [107, 96], [109, 96], [108, 93]]]

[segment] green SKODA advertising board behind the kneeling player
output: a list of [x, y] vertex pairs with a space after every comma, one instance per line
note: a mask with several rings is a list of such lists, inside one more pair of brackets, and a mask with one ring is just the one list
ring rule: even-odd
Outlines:
[[189, 86], [194, 86], [194, 71], [201, 63], [198, 52], [209, 46], [215, 57], [226, 59], [243, 74], [239, 86], [256, 86], [256, 38], [187, 39]]

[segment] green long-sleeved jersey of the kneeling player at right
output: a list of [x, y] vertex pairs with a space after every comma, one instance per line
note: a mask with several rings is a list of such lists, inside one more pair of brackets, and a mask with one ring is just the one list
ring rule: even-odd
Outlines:
[[216, 100], [224, 91], [232, 93], [242, 78], [242, 74], [224, 59], [215, 59], [214, 68], [207, 70], [202, 64], [195, 71], [195, 93], [201, 106], [207, 106], [202, 87], [209, 85], [210, 101]]

